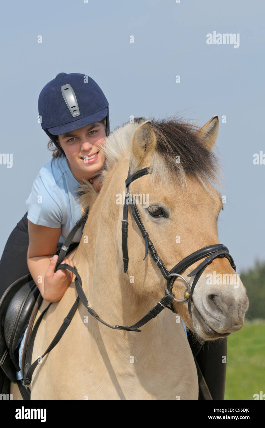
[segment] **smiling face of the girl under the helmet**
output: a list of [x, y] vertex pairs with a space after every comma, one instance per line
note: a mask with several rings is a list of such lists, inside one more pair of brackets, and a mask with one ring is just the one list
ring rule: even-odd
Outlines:
[[58, 135], [58, 143], [77, 181], [95, 177], [104, 165], [105, 156], [100, 148], [105, 138], [105, 126], [101, 122]]

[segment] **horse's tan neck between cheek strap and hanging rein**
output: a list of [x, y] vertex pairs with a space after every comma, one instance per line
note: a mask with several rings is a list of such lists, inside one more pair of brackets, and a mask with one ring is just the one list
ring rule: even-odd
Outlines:
[[119, 242], [123, 206], [116, 204], [116, 194], [125, 191], [127, 174], [125, 159], [108, 173], [74, 259], [89, 306], [108, 324], [125, 326], [134, 324], [156, 303], [137, 292], [123, 272]]

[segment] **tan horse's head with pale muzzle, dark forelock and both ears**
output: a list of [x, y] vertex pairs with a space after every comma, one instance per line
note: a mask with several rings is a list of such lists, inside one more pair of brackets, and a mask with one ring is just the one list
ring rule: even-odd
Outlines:
[[[219, 244], [217, 223], [223, 204], [214, 188], [218, 183], [218, 162], [213, 153], [217, 133], [217, 116], [202, 128], [175, 119], [158, 122], [141, 118], [118, 128], [106, 139], [104, 184], [94, 205], [101, 212], [101, 225], [108, 229], [108, 222], [112, 223], [108, 234], [115, 235], [111, 235], [115, 244], [113, 250], [109, 248], [108, 257], [115, 257], [116, 280], [122, 279], [125, 284], [121, 294], [131, 298], [131, 303], [135, 300], [133, 307], [141, 299], [159, 301], [165, 294], [165, 276], [150, 255], [143, 260], [143, 236], [130, 208], [128, 269], [123, 272], [121, 226], [128, 168], [131, 176], [149, 169], [148, 174], [130, 183], [129, 192], [159, 260], [170, 271], [189, 254]], [[204, 267], [196, 279], [190, 305], [186, 284], [188, 281], [190, 291], [195, 279], [188, 275], [202, 260], [189, 264], [182, 272], [183, 279], [176, 278], [172, 286], [175, 312], [204, 340], [239, 330], [248, 309], [245, 287], [226, 256], [220, 255]], [[124, 287], [129, 291], [125, 292]]]

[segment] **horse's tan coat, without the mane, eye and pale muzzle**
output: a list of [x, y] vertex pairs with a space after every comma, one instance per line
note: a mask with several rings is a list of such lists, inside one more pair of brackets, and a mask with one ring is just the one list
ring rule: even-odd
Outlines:
[[[134, 324], [164, 295], [164, 279], [159, 269], [150, 255], [143, 261], [143, 238], [132, 219], [130, 207], [128, 275], [123, 273], [122, 205], [116, 205], [115, 201], [116, 194], [125, 190], [129, 159], [131, 166], [140, 162], [143, 168], [148, 166], [154, 151], [154, 135], [151, 133], [145, 138], [147, 148], [140, 145], [141, 135], [134, 134], [125, 155], [105, 174], [97, 198], [87, 185], [90, 196], [86, 196], [86, 203], [91, 199], [90, 214], [79, 247], [71, 257], [82, 278], [89, 305], [113, 326]], [[130, 191], [149, 193], [150, 205], [163, 204], [169, 211], [169, 219], [157, 221], [143, 206], [138, 206], [151, 241], [169, 270], [198, 248], [219, 242], [217, 216], [221, 199], [217, 191], [213, 188], [211, 192], [207, 191], [192, 177], [186, 177], [184, 190], [178, 184], [173, 190], [171, 184], [161, 186], [157, 183], [152, 187], [150, 180], [150, 175], [146, 175], [134, 181]], [[179, 244], [175, 241], [176, 235], [181, 237]], [[198, 263], [192, 269], [196, 265]], [[213, 268], [218, 272], [233, 272], [227, 260], [215, 260], [196, 285], [197, 297], [196, 293], [194, 295], [198, 300], [205, 294], [205, 275]], [[186, 277], [189, 272], [183, 275]], [[173, 293], [177, 298], [182, 297], [184, 289], [180, 281], [175, 281]], [[220, 286], [218, 292], [221, 293]], [[229, 292], [234, 293], [233, 290]], [[238, 293], [234, 293], [233, 299], [239, 296], [245, 308], [242, 284]], [[32, 361], [50, 345], [76, 295], [72, 283], [64, 297], [53, 303], [44, 316], [35, 339]], [[45, 305], [43, 303], [41, 310]], [[201, 337], [221, 337], [207, 337], [208, 333], [197, 318], [195, 329], [187, 303], [177, 303], [175, 308], [186, 325]], [[235, 317], [238, 324], [242, 324], [242, 315]], [[176, 322], [176, 315], [171, 311], [163, 310], [142, 327], [142, 333], [125, 332], [99, 323], [79, 303], [61, 341], [35, 370], [31, 394], [32, 400], [197, 400], [198, 379], [182, 324]]]

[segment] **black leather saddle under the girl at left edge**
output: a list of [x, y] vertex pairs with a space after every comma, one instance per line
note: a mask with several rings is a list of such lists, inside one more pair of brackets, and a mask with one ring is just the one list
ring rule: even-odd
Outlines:
[[40, 294], [30, 274], [17, 279], [0, 300], [0, 367], [16, 383], [18, 345]]

